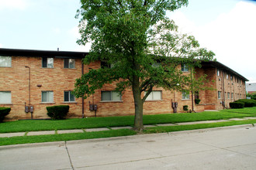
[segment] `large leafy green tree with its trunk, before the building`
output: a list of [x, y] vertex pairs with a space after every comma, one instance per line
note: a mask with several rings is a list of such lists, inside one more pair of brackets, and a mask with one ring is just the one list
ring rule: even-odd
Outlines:
[[198, 49], [193, 36], [171, 33], [177, 32], [177, 26], [165, 18], [165, 12], [187, 4], [187, 0], [81, 0], [78, 44], [92, 42], [83, 61], [101, 60], [112, 67], [82, 75], [75, 83], [75, 97], [86, 98], [105, 83], [118, 82], [119, 93], [130, 88], [135, 106], [133, 129], [142, 131], [143, 104], [153, 87], [182, 90], [188, 77], [177, 66], [198, 63], [195, 56], [214, 55]]

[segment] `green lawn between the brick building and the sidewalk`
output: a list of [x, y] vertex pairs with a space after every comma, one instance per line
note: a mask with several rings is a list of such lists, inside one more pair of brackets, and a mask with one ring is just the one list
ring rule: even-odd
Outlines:
[[[157, 114], [144, 115], [144, 124], [164, 124], [189, 121], [209, 121], [234, 117], [256, 117], [256, 107], [244, 109], [230, 109], [213, 112], [189, 113], [189, 114]], [[0, 133], [21, 131], [50, 131], [81, 128], [102, 128], [133, 126], [133, 116], [123, 117], [88, 117], [67, 119], [61, 121], [51, 120], [26, 120], [11, 121], [0, 124]]]

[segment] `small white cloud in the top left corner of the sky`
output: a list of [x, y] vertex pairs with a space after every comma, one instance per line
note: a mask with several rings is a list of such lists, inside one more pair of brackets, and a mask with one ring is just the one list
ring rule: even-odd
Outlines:
[[1, 9], [25, 9], [29, 6], [28, 0], [0, 0]]

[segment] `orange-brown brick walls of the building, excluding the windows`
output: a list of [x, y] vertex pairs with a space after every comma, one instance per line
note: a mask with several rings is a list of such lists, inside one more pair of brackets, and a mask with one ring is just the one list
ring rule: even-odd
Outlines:
[[[102, 101], [101, 92], [104, 90], [114, 90], [114, 83], [106, 84], [101, 90], [97, 90], [93, 96], [84, 100], [84, 104], [81, 98], [75, 99], [72, 102], [64, 102], [64, 91], [73, 90], [75, 80], [82, 73], [88, 72], [89, 69], [99, 68], [100, 62], [92, 63], [89, 66], [82, 66], [82, 57], [70, 56], [75, 59], [75, 68], [68, 69], [64, 68], [64, 58], [67, 58], [67, 56], [62, 57], [55, 52], [55, 56], [48, 56], [54, 58], [54, 68], [43, 68], [42, 57], [38, 54], [40, 54], [40, 51], [36, 56], [26, 56], [26, 54], [12, 56], [12, 53], [9, 53], [9, 56], [12, 56], [12, 66], [0, 67], [0, 92], [8, 91], [12, 96], [10, 104], [0, 104], [0, 107], [12, 107], [10, 114], [6, 118], [7, 120], [29, 119], [31, 117], [30, 113], [25, 112], [25, 105], [29, 105], [29, 70], [30, 105], [33, 106], [34, 119], [49, 118], [46, 107], [62, 104], [70, 106], [68, 117], [81, 117], [83, 114], [85, 117], [92, 117], [95, 114], [97, 117], [133, 115], [134, 104], [131, 90], [126, 90], [120, 101]], [[0, 56], [3, 56], [1, 51]], [[5, 56], [7, 55], [5, 54]], [[222, 104], [224, 103], [225, 107], [229, 107], [229, 102], [245, 98], [246, 79], [233, 70], [230, 71], [228, 67], [218, 68], [219, 65], [223, 66], [220, 63], [217, 65], [213, 63], [211, 66], [206, 64], [202, 68], [195, 70], [195, 76], [208, 75], [209, 83], [206, 83], [206, 86], [214, 88], [214, 90], [199, 92], [201, 102], [200, 104], [194, 104], [195, 111], [220, 110], [223, 109]], [[29, 68], [26, 66], [29, 66]], [[227, 74], [229, 75], [228, 77]], [[232, 76], [233, 80], [230, 80], [230, 76]], [[189, 109], [192, 109], [191, 93], [189, 95], [190, 99], [185, 100], [182, 99], [181, 92], [163, 89], [154, 90], [161, 90], [161, 100], [145, 101], [144, 114], [173, 113], [172, 101], [178, 102], [178, 112], [184, 112], [184, 105], [189, 105]], [[50, 103], [42, 102], [42, 91], [53, 92], [54, 101]], [[220, 99], [218, 98], [218, 92], [221, 92]], [[98, 110], [96, 113], [94, 110], [89, 110], [89, 102], [90, 104], [97, 104]]]

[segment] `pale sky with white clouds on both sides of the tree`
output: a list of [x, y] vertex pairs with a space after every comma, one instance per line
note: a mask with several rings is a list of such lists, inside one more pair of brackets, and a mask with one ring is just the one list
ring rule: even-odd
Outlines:
[[[0, 0], [0, 48], [86, 51], [78, 46], [79, 0]], [[220, 63], [256, 83], [256, 1], [189, 0], [168, 12]]]

